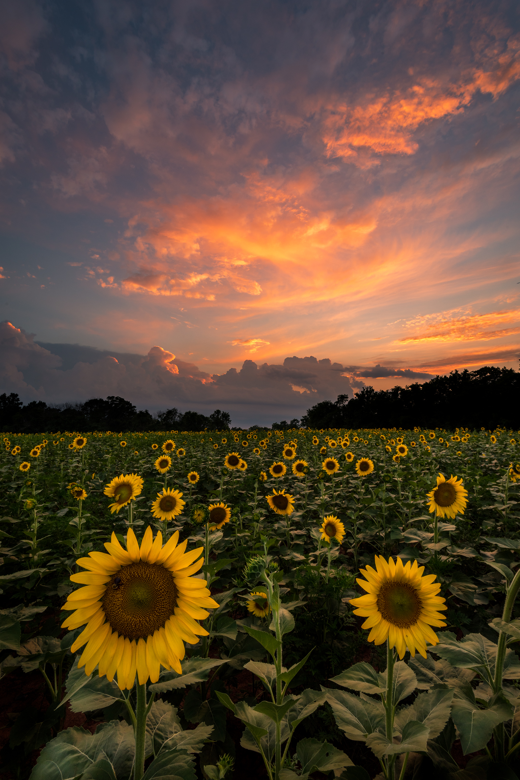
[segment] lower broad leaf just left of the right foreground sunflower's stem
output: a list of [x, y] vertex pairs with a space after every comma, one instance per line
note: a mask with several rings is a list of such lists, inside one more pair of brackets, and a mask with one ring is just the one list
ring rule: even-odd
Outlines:
[[325, 693], [338, 728], [348, 739], [362, 742], [369, 734], [384, 731], [385, 711], [379, 701], [363, 700], [343, 690], [326, 689]]

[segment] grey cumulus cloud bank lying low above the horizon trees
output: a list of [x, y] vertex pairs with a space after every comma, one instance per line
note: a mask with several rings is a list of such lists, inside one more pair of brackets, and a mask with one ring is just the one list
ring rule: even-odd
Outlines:
[[[121, 395], [150, 411], [172, 406], [229, 411], [235, 424], [271, 424], [300, 417], [318, 401], [354, 387], [341, 363], [288, 357], [281, 365], [245, 360], [240, 371], [208, 374], [161, 346], [147, 355], [110, 353], [71, 344], [41, 344], [10, 322], [0, 324], [0, 388], [24, 401], [83, 401]], [[293, 389], [293, 385], [299, 389]]]

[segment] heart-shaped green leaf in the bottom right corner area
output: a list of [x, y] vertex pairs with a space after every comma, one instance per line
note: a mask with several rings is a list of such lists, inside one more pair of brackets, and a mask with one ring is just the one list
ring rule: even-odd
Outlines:
[[513, 707], [503, 693], [491, 697], [486, 710], [468, 699], [455, 699], [451, 707], [451, 718], [461, 736], [464, 755], [482, 750], [489, 742], [493, 729], [499, 723], [509, 720]]

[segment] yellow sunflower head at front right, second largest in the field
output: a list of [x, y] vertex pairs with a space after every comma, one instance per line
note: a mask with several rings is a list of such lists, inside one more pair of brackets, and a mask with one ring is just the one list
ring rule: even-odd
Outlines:
[[369, 642], [396, 647], [399, 658], [403, 658], [406, 647], [412, 656], [416, 651], [426, 658], [426, 642], [438, 643], [431, 626], [446, 626], [439, 610], [447, 609], [444, 598], [438, 596], [440, 584], [435, 575], [423, 576], [424, 566], [417, 561], [407, 562], [401, 558], [394, 563], [382, 555], [376, 555], [376, 569], [367, 566], [360, 569], [366, 580], [356, 580], [367, 593], [350, 599], [355, 615], [368, 618], [363, 628], [371, 629]]

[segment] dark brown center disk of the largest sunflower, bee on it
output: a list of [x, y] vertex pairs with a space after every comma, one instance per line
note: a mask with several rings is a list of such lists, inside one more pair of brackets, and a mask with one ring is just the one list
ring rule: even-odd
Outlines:
[[114, 631], [129, 640], [146, 639], [164, 626], [177, 604], [171, 572], [141, 561], [122, 566], [107, 585], [103, 609]]

